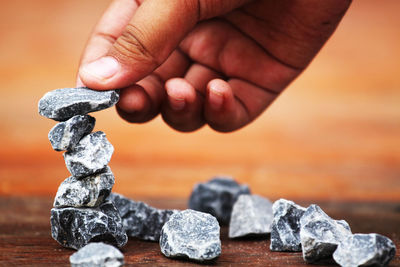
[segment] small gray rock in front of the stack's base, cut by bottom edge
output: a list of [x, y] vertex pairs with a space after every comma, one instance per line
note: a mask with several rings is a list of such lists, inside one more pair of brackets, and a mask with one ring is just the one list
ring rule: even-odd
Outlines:
[[71, 267], [119, 267], [124, 255], [115, 247], [104, 243], [89, 243], [69, 257]]

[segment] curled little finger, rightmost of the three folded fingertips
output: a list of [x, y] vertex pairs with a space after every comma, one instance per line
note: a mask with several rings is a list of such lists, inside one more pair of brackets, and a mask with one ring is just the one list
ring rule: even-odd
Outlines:
[[253, 121], [276, 98], [262, 88], [239, 79], [213, 80], [207, 87], [204, 116], [216, 131], [230, 132]]

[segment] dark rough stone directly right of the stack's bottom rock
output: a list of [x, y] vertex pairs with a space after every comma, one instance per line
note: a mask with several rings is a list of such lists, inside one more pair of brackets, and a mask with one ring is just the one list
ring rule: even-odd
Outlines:
[[143, 240], [158, 242], [161, 228], [172, 214], [178, 212], [178, 210], [156, 209], [116, 193], [111, 193], [108, 200], [113, 202], [121, 215], [126, 234]]

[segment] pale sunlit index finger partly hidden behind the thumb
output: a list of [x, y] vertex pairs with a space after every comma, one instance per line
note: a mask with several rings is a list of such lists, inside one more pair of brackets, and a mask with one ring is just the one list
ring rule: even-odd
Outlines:
[[[81, 56], [80, 66], [94, 61], [108, 52], [131, 20], [138, 3], [138, 1], [132, 0], [114, 0], [110, 4], [89, 37]], [[78, 75], [77, 87], [80, 86], [83, 86], [83, 82]]]

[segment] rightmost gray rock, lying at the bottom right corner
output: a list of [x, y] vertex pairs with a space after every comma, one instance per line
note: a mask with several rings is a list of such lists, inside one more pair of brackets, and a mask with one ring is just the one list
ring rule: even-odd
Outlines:
[[355, 234], [345, 238], [333, 253], [343, 267], [386, 266], [396, 255], [396, 246], [379, 234]]

